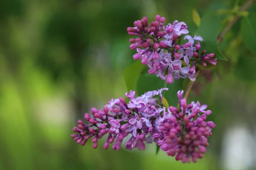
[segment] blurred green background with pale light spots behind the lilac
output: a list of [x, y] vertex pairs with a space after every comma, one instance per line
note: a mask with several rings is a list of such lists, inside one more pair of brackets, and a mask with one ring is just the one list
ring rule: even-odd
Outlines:
[[255, 170], [256, 61], [241, 38], [241, 19], [220, 43], [229, 61], [218, 61], [211, 81], [199, 77], [189, 96], [208, 104], [217, 125], [204, 159], [182, 164], [162, 151], [156, 156], [153, 144], [114, 151], [102, 141], [94, 150], [70, 138], [91, 107], [125, 96], [123, 72], [135, 53], [126, 28], [135, 20], [160, 14], [193, 32], [193, 8], [201, 17], [213, 11], [225, 26], [245, 2], [1, 0], [0, 170]]

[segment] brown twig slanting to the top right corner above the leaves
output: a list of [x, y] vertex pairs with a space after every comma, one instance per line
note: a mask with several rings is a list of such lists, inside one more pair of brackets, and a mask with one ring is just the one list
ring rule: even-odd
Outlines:
[[[239, 10], [239, 13], [242, 11], [247, 10], [247, 8], [249, 8], [249, 6], [253, 3], [254, 0], [248, 0], [244, 6], [241, 7], [241, 9]], [[223, 29], [223, 31], [218, 35], [217, 38], [217, 42], [221, 42], [222, 38], [224, 37], [224, 35], [227, 33], [227, 31], [230, 30], [230, 28], [236, 23], [236, 21], [240, 18], [239, 14], [236, 14], [236, 16], [234, 17], [234, 19], [227, 24], [227, 26]]]

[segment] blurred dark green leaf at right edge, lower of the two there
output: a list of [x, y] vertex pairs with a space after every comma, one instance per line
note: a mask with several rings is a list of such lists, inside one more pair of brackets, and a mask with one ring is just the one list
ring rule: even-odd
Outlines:
[[255, 65], [255, 57], [240, 57], [237, 65], [234, 67], [233, 73], [241, 80], [247, 82], [256, 81]]

